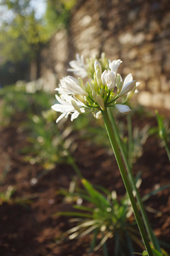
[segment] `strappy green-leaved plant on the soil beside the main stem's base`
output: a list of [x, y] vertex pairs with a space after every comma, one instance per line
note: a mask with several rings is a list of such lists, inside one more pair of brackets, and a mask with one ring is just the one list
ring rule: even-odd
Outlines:
[[[69, 239], [74, 239], [82, 238], [84, 235], [92, 233], [89, 253], [103, 247], [104, 255], [108, 255], [106, 246], [108, 238], [115, 240], [114, 255], [121, 254], [123, 247], [125, 247], [125, 251], [129, 250], [130, 255], [132, 255], [134, 251], [132, 241], [137, 242], [137, 245], [143, 248], [140, 241], [140, 233], [137, 231], [136, 222], [132, 216], [132, 207], [128, 196], [118, 200], [115, 191], [110, 193], [106, 188], [98, 186], [98, 189], [102, 191], [101, 193], [85, 179], [81, 181], [85, 190], [78, 188], [74, 191], [75, 183], [72, 181], [72, 189], [69, 193], [64, 190], [60, 191], [65, 198], [69, 198], [69, 202], [70, 200], [77, 201], [77, 205], [73, 207], [80, 210], [79, 212], [57, 213], [57, 215], [77, 217], [69, 220], [69, 222], [77, 222], [78, 225], [68, 230], [64, 235], [69, 236]], [[88, 206], [81, 205], [81, 198], [88, 203]], [[97, 242], [98, 240], [100, 242]]]

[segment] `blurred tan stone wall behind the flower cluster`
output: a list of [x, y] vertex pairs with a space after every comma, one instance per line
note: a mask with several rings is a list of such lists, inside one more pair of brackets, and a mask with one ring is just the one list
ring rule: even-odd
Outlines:
[[111, 60], [123, 60], [119, 73], [132, 73], [141, 82], [141, 105], [170, 110], [169, 0], [79, 1], [69, 30], [57, 32], [42, 51], [41, 74], [60, 79], [76, 53], [86, 58], [103, 51]]

